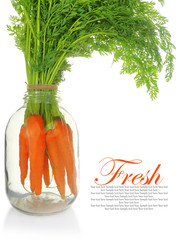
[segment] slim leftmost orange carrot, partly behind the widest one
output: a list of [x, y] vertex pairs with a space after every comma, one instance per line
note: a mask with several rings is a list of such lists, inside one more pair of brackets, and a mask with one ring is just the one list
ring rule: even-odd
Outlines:
[[25, 179], [28, 173], [28, 140], [26, 135], [26, 126], [23, 125], [19, 134], [19, 167], [21, 172], [21, 184], [24, 186]]

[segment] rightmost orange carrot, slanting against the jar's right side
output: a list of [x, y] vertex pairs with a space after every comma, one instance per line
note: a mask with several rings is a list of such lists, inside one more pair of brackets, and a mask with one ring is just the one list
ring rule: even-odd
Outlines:
[[76, 185], [76, 168], [75, 168], [75, 158], [73, 152], [73, 139], [72, 133], [70, 132], [69, 126], [61, 120], [55, 122], [55, 135], [57, 138], [57, 144], [60, 154], [63, 158], [66, 172], [67, 172], [67, 182], [70, 187], [71, 192], [77, 194]]

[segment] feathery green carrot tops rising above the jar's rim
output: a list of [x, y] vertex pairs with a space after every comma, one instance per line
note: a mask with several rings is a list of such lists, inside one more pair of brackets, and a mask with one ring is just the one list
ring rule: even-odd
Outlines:
[[[134, 74], [136, 86], [158, 94], [165, 66], [172, 78], [173, 48], [167, 18], [154, 2], [141, 0], [11, 0], [18, 16], [8, 30], [25, 56], [28, 84], [58, 84], [70, 70], [69, 57], [113, 54], [121, 73]], [[164, 0], [159, 0], [161, 4]], [[164, 57], [163, 57], [164, 56]]]

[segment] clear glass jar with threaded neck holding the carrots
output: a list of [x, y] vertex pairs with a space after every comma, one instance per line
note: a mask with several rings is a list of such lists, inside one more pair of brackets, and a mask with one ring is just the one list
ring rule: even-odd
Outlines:
[[29, 90], [7, 124], [6, 192], [25, 213], [60, 212], [77, 196], [78, 132], [57, 95], [57, 90]]

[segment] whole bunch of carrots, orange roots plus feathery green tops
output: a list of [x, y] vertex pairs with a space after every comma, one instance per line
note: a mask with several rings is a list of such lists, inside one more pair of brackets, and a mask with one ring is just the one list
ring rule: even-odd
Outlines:
[[[164, 0], [158, 0], [161, 4]], [[121, 73], [134, 74], [151, 99], [159, 92], [158, 74], [172, 78], [175, 48], [167, 19], [153, 1], [142, 0], [11, 0], [17, 16], [8, 26], [25, 57], [28, 85], [58, 85], [70, 70], [69, 57], [113, 54]], [[162, 54], [164, 53], [164, 54]], [[164, 57], [163, 57], [164, 56]], [[20, 170], [24, 185], [30, 160], [31, 191], [39, 195], [42, 178], [50, 184], [49, 162], [57, 188], [65, 198], [65, 182], [76, 194], [76, 168], [70, 126], [58, 109], [31, 94], [20, 130]], [[34, 90], [36, 92], [36, 90]]]

